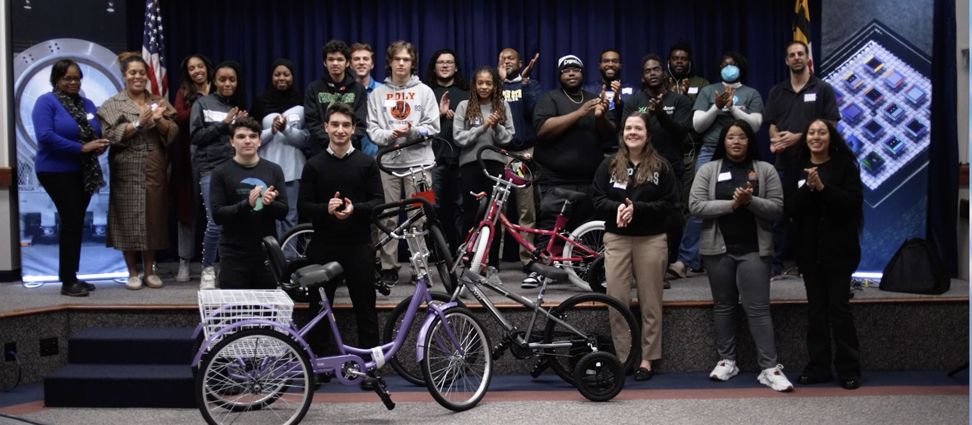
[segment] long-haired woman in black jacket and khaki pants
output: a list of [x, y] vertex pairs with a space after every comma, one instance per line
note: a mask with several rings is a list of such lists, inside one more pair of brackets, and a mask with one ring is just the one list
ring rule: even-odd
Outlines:
[[[650, 379], [654, 375], [651, 362], [662, 357], [662, 278], [668, 267], [666, 218], [678, 202], [672, 166], [651, 146], [648, 122], [647, 116], [638, 112], [625, 118], [619, 150], [601, 163], [593, 184], [598, 219], [605, 220], [608, 295], [630, 305], [631, 281], [637, 282], [642, 363], [635, 372], [636, 380]], [[614, 346], [627, 344], [615, 341]], [[628, 354], [617, 352], [617, 357], [624, 362]]]

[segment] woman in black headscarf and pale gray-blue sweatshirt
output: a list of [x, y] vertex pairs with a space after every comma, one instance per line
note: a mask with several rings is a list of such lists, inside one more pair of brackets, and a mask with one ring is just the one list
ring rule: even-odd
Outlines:
[[287, 218], [277, 221], [277, 235], [297, 223], [297, 186], [310, 148], [310, 133], [304, 128], [303, 95], [294, 84], [294, 63], [277, 59], [270, 67], [270, 83], [253, 103], [250, 115], [263, 129], [260, 158], [280, 166], [287, 180]]

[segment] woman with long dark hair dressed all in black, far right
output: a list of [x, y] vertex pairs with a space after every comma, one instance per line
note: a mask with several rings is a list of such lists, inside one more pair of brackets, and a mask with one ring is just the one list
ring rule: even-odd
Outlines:
[[[830, 121], [817, 119], [797, 144], [787, 181], [796, 261], [807, 288], [807, 350], [801, 384], [828, 382], [831, 363], [841, 386], [860, 386], [860, 347], [848, 296], [860, 261], [864, 195], [857, 159]], [[831, 362], [830, 333], [837, 345]]]

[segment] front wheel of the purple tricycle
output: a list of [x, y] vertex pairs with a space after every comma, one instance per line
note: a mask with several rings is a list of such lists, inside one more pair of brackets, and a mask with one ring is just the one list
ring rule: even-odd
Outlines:
[[442, 318], [436, 317], [423, 345], [422, 376], [429, 393], [442, 407], [454, 411], [472, 409], [486, 395], [493, 376], [489, 337], [472, 311], [449, 309], [445, 320], [459, 345], [452, 343]]

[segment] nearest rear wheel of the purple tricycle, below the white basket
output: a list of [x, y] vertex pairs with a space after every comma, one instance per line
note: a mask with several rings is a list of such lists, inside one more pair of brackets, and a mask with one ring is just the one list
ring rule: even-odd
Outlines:
[[210, 425], [299, 423], [310, 408], [314, 372], [290, 337], [240, 331], [217, 343], [195, 379], [196, 406]]

